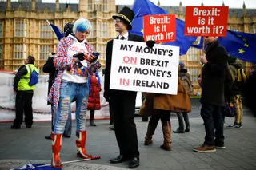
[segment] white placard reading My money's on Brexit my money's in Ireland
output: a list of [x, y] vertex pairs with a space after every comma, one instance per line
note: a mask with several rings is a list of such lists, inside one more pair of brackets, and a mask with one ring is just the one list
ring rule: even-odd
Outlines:
[[114, 39], [110, 89], [177, 94], [179, 47]]

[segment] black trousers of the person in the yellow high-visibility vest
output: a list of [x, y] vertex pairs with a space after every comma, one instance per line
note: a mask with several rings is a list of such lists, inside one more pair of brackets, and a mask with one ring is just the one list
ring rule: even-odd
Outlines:
[[23, 113], [25, 113], [25, 125], [33, 124], [32, 98], [33, 92], [18, 91], [16, 93], [14, 126], [20, 127], [22, 125]]

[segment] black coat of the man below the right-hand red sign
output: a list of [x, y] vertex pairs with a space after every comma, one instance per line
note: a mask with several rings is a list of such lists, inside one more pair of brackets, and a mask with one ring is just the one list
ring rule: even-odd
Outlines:
[[202, 68], [202, 104], [224, 106], [226, 49], [218, 41], [213, 42], [206, 49], [206, 59], [208, 63]]

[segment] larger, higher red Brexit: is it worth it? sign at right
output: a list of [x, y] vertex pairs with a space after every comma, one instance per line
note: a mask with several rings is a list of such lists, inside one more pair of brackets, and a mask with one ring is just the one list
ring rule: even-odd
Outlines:
[[184, 34], [226, 36], [228, 6], [186, 6]]

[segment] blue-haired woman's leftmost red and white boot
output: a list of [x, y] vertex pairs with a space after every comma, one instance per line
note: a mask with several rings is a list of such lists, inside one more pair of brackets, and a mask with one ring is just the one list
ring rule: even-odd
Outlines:
[[51, 134], [53, 158], [51, 160], [51, 166], [54, 168], [62, 168], [62, 163], [59, 157], [59, 152], [62, 148], [62, 134]]

